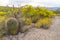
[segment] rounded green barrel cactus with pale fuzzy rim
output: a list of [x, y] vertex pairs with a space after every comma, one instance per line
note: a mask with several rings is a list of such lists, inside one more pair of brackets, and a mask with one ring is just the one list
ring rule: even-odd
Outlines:
[[8, 34], [17, 34], [18, 31], [18, 21], [15, 18], [9, 18], [6, 20], [6, 27]]

